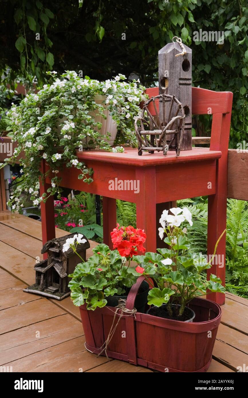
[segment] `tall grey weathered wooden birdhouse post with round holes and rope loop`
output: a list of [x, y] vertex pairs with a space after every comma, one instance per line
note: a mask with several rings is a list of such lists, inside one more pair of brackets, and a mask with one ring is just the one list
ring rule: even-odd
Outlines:
[[[175, 96], [184, 107], [184, 131], [180, 150], [192, 149], [192, 113], [191, 113], [191, 80], [192, 80], [192, 51], [179, 38], [166, 44], [158, 51], [158, 78], [159, 94]], [[172, 39], [172, 40], [173, 40]], [[163, 126], [166, 126], [170, 117], [178, 115], [178, 104], [170, 98], [160, 99], [159, 117]], [[164, 106], [165, 105], [165, 106]], [[172, 108], [171, 108], [172, 105]], [[172, 139], [172, 136], [169, 137]], [[170, 150], [170, 149], [169, 149]], [[173, 149], [172, 149], [173, 150]]]

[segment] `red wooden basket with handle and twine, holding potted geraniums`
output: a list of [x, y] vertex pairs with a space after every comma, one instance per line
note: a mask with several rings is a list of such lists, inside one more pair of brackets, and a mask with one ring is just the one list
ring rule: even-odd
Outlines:
[[[139, 277], [131, 288], [126, 308], [133, 309], [144, 279]], [[168, 320], [141, 312], [124, 313], [107, 347], [108, 357], [161, 372], [206, 372], [221, 322], [221, 308], [204, 298], [194, 298], [189, 308], [195, 312], [193, 322]], [[80, 306], [88, 351], [95, 354], [102, 351], [100, 347], [107, 339], [115, 310], [115, 307], [105, 306], [88, 311], [86, 304]], [[120, 312], [117, 312], [115, 324]]]

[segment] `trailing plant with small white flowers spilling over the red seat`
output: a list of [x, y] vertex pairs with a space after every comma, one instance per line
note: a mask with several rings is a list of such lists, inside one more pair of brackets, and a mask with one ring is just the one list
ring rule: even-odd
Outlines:
[[[27, 95], [8, 113], [12, 120], [13, 141], [18, 141], [18, 147], [5, 162], [14, 164], [21, 152], [24, 155], [20, 159], [23, 181], [8, 202], [13, 211], [23, 207], [23, 191], [31, 194], [34, 205], [55, 193], [60, 197], [57, 174], [63, 164], [79, 169], [78, 178], [84, 182], [93, 181], [93, 170], [78, 160], [75, 149], [90, 146], [112, 150], [107, 137], [100, 133], [102, 123], [95, 120], [99, 115], [106, 119], [106, 107], [125, 139], [135, 143], [133, 119], [139, 114], [139, 103], [144, 99], [145, 90], [137, 85], [139, 81], [123, 82], [126, 78], [121, 74], [113, 80], [99, 82], [88, 76], [80, 78], [74, 71], [62, 74], [61, 79], [56, 78], [57, 72], [47, 73], [54, 76], [55, 82], [45, 84], [37, 94]], [[105, 96], [103, 103], [96, 103], [99, 95]], [[117, 147], [115, 152], [122, 150]], [[42, 176], [40, 165], [43, 159], [52, 176], [52, 187], [40, 197], [39, 177]], [[0, 164], [0, 168], [3, 166]]]

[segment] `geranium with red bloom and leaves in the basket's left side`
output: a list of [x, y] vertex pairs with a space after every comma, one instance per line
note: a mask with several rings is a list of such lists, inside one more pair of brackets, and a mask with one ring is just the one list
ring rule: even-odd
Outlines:
[[[77, 236], [79, 239], [83, 237], [78, 234], [74, 238], [67, 239], [63, 251], [72, 248], [76, 253]], [[131, 226], [127, 228], [117, 226], [112, 232], [112, 240], [117, 250], [110, 250], [105, 244], [98, 245], [92, 249], [94, 255], [86, 262], [79, 263], [74, 273], [69, 275], [72, 280], [68, 286], [74, 305], [80, 306], [86, 302], [88, 310], [95, 310], [107, 304], [106, 297], [127, 295], [129, 289], [136, 283], [140, 274], [133, 272], [129, 265], [137, 249], [143, 247], [146, 240], [145, 232], [135, 230]], [[126, 245], [124, 242], [129, 243]]]

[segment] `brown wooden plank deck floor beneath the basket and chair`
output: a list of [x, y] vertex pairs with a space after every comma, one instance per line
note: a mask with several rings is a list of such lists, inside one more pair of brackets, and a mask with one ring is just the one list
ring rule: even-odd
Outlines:
[[[68, 233], [56, 232], [57, 237]], [[23, 293], [35, 280], [41, 247], [40, 222], [0, 212], [0, 365], [13, 372], [152, 372], [86, 351], [79, 310], [70, 297], [58, 302]], [[235, 372], [248, 364], [248, 300], [227, 293], [222, 309], [208, 372]]]

